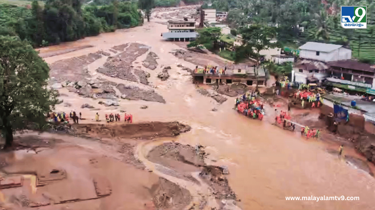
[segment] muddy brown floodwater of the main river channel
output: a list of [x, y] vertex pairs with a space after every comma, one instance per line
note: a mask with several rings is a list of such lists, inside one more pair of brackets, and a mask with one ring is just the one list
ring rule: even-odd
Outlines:
[[[172, 121], [177, 120], [192, 126], [192, 131], [183, 133], [178, 142], [207, 146], [210, 156], [217, 159], [217, 165], [227, 165], [229, 185], [241, 200], [244, 210], [372, 210], [375, 209], [375, 180], [369, 174], [349, 166], [337, 155], [326, 152], [323, 143], [307, 141], [293, 133], [279, 129], [266, 121], [251, 120], [234, 111], [234, 98], [228, 98], [222, 105], [216, 105], [211, 98], [200, 95], [191, 83], [186, 71], [175, 68], [182, 64], [194, 68], [183, 60], [175, 58], [172, 49], [179, 47], [173, 42], [162, 41], [160, 34], [167, 31], [152, 19], [141, 27], [118, 30], [114, 33], [87, 37], [71, 43], [63, 43], [51, 48], [39, 49], [41, 53], [51, 50], [69, 49], [78, 46], [94, 47], [69, 52], [63, 55], [45, 58], [49, 64], [65, 58], [85, 55], [100, 49], [128, 43], [140, 42], [151, 46], [160, 59], [157, 62], [171, 65], [171, 78], [166, 82], [152, 80], [166, 104], [144, 101], [124, 101], [119, 109], [124, 108], [134, 114], [134, 121]], [[157, 20], [165, 21], [165, 20]], [[139, 57], [140, 62], [145, 56]], [[104, 63], [99, 59], [89, 65], [94, 71]], [[159, 69], [159, 68], [158, 68]], [[160, 69], [156, 71], [160, 71]], [[177, 72], [181, 72], [178, 74]], [[116, 81], [115, 79], [112, 79]], [[67, 92], [68, 93], [68, 92]], [[114, 112], [112, 108], [100, 111], [80, 109], [83, 103], [96, 103], [93, 99], [83, 99], [70, 94], [64, 98], [81, 111], [83, 116], [94, 119], [96, 112], [104, 117], [105, 113]], [[95, 105], [95, 106], [96, 106]], [[148, 105], [148, 109], [139, 109]], [[217, 108], [216, 112], [211, 111]], [[101, 107], [100, 107], [101, 108]], [[58, 110], [70, 111], [62, 105]], [[287, 196], [338, 196], [359, 197], [359, 201], [286, 201]]]

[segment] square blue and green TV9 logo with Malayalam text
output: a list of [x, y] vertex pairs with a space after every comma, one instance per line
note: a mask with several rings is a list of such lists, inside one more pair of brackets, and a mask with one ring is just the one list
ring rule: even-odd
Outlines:
[[341, 27], [367, 28], [367, 6], [341, 6]]

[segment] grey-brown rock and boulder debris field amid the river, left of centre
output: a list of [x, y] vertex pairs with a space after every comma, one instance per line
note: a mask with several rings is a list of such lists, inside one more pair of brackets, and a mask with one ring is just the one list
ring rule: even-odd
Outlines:
[[[88, 55], [56, 61], [50, 65], [49, 84], [53, 89], [65, 87], [69, 92], [78, 93], [83, 97], [105, 99], [99, 101], [99, 104], [106, 106], [118, 106], [118, 98], [165, 103], [163, 97], [152, 88], [142, 89], [140, 86], [126, 82], [118, 84], [108, 81], [100, 75], [94, 77], [87, 68], [87, 65], [106, 56], [107, 60], [95, 70], [96, 72], [104, 76], [148, 85], [147, 78], [150, 77], [150, 74], [134, 68], [132, 65], [132, 62], [144, 55], [148, 49], [149, 47], [144, 44], [126, 43], [114, 46], [108, 52], [99, 50]], [[117, 55], [111, 56], [110, 52], [117, 53]], [[154, 70], [157, 67], [157, 58], [158, 56], [154, 52], [149, 52], [143, 61], [143, 66]], [[116, 89], [121, 95], [116, 95]]]

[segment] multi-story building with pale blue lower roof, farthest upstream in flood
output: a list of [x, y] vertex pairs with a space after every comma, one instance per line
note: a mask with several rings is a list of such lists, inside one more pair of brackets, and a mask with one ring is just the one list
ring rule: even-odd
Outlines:
[[173, 41], [190, 41], [196, 38], [195, 21], [168, 21], [168, 33], [163, 38]]

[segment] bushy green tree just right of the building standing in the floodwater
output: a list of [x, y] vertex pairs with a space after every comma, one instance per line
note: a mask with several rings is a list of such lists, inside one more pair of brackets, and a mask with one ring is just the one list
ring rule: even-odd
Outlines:
[[206, 44], [213, 42], [216, 44], [217, 40], [220, 38], [221, 28], [220, 27], [209, 27], [196, 30], [198, 37], [194, 41], [187, 44], [187, 47], [196, 47], [200, 44]]

